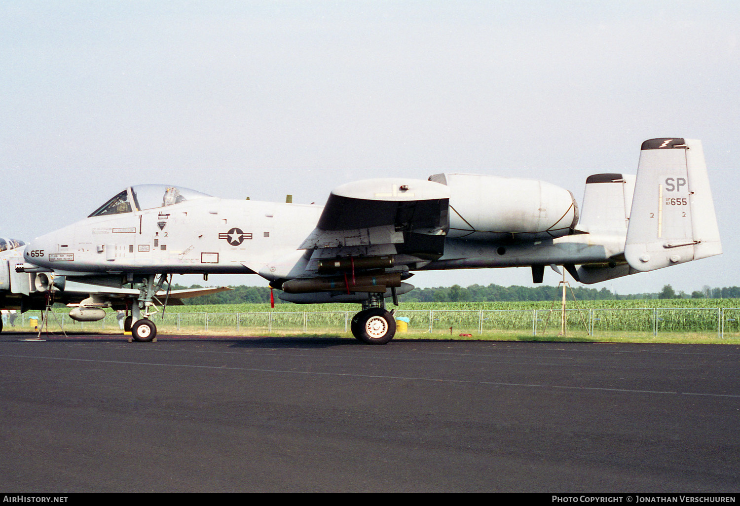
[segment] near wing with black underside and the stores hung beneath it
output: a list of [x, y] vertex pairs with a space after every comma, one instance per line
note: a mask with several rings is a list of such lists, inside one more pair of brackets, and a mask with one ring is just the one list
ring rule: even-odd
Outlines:
[[[283, 300], [361, 300], [367, 293], [412, 289], [409, 269], [444, 253], [449, 189], [433, 181], [382, 178], [332, 190], [314, 231], [303, 240], [303, 261], [287, 275], [279, 265], [260, 274], [286, 292]], [[361, 295], [364, 294], [364, 295]]]

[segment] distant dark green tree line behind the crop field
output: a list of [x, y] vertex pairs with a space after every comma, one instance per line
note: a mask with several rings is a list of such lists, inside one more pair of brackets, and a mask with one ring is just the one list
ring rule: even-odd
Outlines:
[[[202, 288], [200, 285], [178, 286], [173, 290]], [[203, 295], [192, 299], [185, 299], [186, 305], [193, 304], [240, 304], [240, 303], [269, 303], [270, 289], [266, 286], [235, 286], [233, 290], [222, 291], [218, 294]], [[283, 303], [277, 298], [280, 291], [275, 290], [275, 303]], [[401, 302], [526, 302], [536, 300], [555, 300], [562, 294], [557, 286], [488, 286], [460, 285], [438, 286], [435, 288], [414, 288], [408, 294], [400, 296]], [[633, 300], [633, 299], [734, 299], [740, 298], [740, 287], [710, 288], [704, 286], [702, 290], [686, 294], [675, 291], [672, 286], [665, 285], [656, 293], [616, 294], [607, 288], [593, 289], [585, 286], [573, 287], [573, 294], [568, 290], [568, 298], [573, 295], [578, 300]]]

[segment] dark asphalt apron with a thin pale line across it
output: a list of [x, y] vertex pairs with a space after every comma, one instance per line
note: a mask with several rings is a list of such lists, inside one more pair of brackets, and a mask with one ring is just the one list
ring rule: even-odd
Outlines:
[[740, 347], [0, 334], [0, 490], [737, 492]]

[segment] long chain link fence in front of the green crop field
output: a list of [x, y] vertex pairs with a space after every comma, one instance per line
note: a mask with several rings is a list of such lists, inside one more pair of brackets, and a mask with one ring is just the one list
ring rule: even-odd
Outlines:
[[[249, 313], [155, 314], [162, 332], [198, 334], [349, 333], [355, 311], [264, 311]], [[563, 333], [560, 309], [411, 310], [399, 309], [396, 318], [408, 319], [409, 334], [459, 336], [558, 336]], [[33, 330], [41, 315], [17, 317], [15, 328]], [[50, 329], [118, 331], [122, 321], [107, 313], [97, 322], [76, 322], [64, 312], [50, 315]], [[5, 325], [10, 330], [10, 325]], [[401, 333], [401, 332], [400, 332]], [[581, 308], [565, 310], [566, 337], [740, 337], [740, 308]]]

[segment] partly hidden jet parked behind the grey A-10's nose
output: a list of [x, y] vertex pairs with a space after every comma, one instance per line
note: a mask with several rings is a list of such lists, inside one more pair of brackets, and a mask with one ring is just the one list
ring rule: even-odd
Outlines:
[[[8, 247], [10, 246], [10, 247]], [[24, 263], [22, 240], [4, 239], [0, 237], [0, 308], [16, 309], [21, 313], [32, 309], [43, 311], [52, 303], [64, 303], [70, 310], [70, 317], [81, 322], [102, 320], [106, 312], [104, 308], [127, 310], [131, 300], [138, 296], [139, 291], [115, 286], [100, 286], [82, 283], [84, 277], [67, 280], [53, 272], [17, 272], [16, 265]], [[160, 290], [155, 294], [154, 302], [157, 305], [164, 303], [172, 306], [183, 305], [183, 299], [200, 295], [214, 294], [219, 291], [230, 290], [227, 286], [184, 289]], [[132, 317], [128, 317], [126, 325], [130, 329]], [[2, 323], [0, 322], [0, 332]]]

